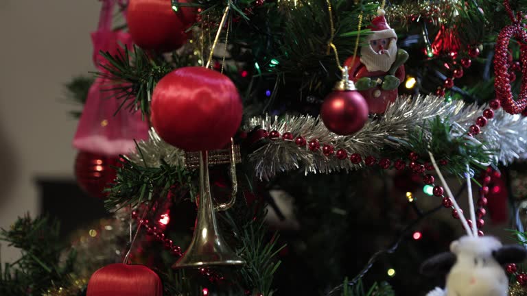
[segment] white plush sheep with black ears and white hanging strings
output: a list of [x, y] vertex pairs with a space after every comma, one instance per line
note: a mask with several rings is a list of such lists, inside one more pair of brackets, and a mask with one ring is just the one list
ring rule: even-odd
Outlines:
[[[452, 196], [452, 191], [436, 166], [432, 153], [430, 159], [447, 195], [452, 199], [454, 208], [460, 213], [467, 236], [452, 242], [450, 252], [434, 256], [423, 263], [421, 273], [431, 276], [447, 275], [445, 289], [435, 288], [427, 296], [507, 296], [508, 277], [503, 265], [522, 262], [527, 256], [526, 249], [520, 245], [504, 246], [492, 236], [478, 236], [476, 223], [473, 223], [472, 229], [469, 227], [456, 199]], [[476, 221], [468, 175], [467, 188], [471, 218]]]

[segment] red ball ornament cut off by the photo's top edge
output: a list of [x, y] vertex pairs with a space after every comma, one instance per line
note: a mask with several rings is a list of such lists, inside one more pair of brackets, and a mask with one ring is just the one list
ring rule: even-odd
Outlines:
[[191, 18], [187, 9], [180, 8], [178, 15], [172, 10], [171, 0], [130, 0], [127, 21], [132, 40], [143, 49], [163, 52], [178, 49], [189, 36], [185, 33]]

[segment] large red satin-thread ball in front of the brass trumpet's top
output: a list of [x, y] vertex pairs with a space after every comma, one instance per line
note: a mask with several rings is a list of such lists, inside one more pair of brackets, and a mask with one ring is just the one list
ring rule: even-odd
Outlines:
[[165, 142], [180, 149], [220, 149], [238, 130], [242, 102], [229, 77], [204, 67], [184, 67], [154, 88], [151, 121]]

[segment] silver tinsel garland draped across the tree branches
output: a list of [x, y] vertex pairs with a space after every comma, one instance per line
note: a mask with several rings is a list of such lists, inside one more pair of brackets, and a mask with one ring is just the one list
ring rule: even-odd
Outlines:
[[[362, 130], [353, 136], [338, 136], [329, 132], [324, 123], [313, 116], [281, 116], [280, 118], [264, 116], [254, 117], [244, 126], [244, 130], [253, 130], [260, 126], [269, 132], [277, 130], [280, 134], [291, 132], [294, 136], [303, 136], [306, 140], [317, 139], [320, 144], [332, 145], [337, 151], [345, 149], [348, 153], [359, 153], [365, 156], [382, 157], [380, 148], [391, 147], [400, 149], [408, 140], [409, 132], [418, 127], [425, 127], [427, 120], [436, 116], [449, 118], [454, 126], [453, 136], [466, 134], [481, 116], [484, 108], [467, 105], [463, 101], [445, 103], [443, 97], [435, 95], [416, 95], [414, 97], [399, 97], [388, 106], [384, 116], [371, 120]], [[427, 132], [427, 130], [423, 130]], [[159, 165], [163, 159], [169, 164], [183, 165], [185, 153], [172, 147], [151, 132], [151, 140], [139, 143], [139, 147], [148, 166]], [[503, 110], [495, 111], [493, 119], [482, 127], [482, 132], [476, 140], [485, 143], [492, 151], [495, 161], [508, 164], [514, 159], [524, 158], [527, 151], [527, 119], [520, 115], [507, 114]], [[334, 155], [325, 156], [322, 149], [316, 152], [307, 147], [298, 147], [294, 141], [270, 140], [250, 154], [255, 173], [261, 180], [268, 180], [277, 173], [303, 168], [305, 173], [331, 173], [333, 171], [351, 171], [359, 169], [359, 164], [351, 163], [349, 158], [339, 160]], [[139, 153], [129, 156], [137, 164], [143, 163]]]

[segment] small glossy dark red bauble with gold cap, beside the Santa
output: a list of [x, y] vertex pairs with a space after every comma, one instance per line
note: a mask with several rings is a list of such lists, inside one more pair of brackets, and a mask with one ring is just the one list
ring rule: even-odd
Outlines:
[[324, 100], [320, 117], [335, 134], [355, 134], [368, 121], [368, 104], [357, 90], [335, 90]]

